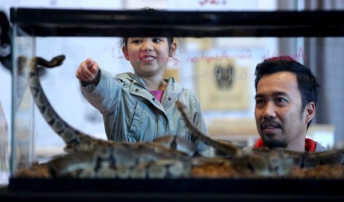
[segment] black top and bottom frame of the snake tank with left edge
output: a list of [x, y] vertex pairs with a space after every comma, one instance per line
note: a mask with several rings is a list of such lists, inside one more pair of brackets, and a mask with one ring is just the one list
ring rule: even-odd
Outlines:
[[[343, 37], [344, 12], [342, 11], [305, 11], [305, 12], [177, 12], [177, 11], [109, 11], [109, 10], [49, 10], [32, 8], [12, 8], [13, 23], [13, 95], [15, 96], [19, 75], [27, 77], [28, 71], [19, 68], [19, 57], [31, 58], [35, 55], [36, 36], [178, 36], [178, 37]], [[156, 18], [155, 16], [160, 16]], [[25, 93], [19, 93], [25, 96]], [[17, 120], [17, 102], [14, 98], [12, 109], [12, 173], [19, 166], [32, 164], [33, 135], [18, 139], [20, 128], [17, 124], [25, 122], [29, 131], [33, 117]], [[21, 107], [30, 105], [23, 105]], [[22, 144], [27, 144], [26, 148]], [[20, 148], [20, 149], [19, 149]], [[25, 155], [25, 156], [23, 156]], [[92, 183], [89, 183], [92, 181]], [[20, 179], [12, 177], [12, 190], [34, 191], [76, 191], [93, 190], [113, 192], [183, 192], [183, 193], [227, 193], [227, 194], [314, 194], [314, 187], [308, 186], [315, 179], [298, 182], [279, 179]], [[85, 183], [87, 182], [87, 183]], [[233, 186], [230, 185], [233, 183]], [[261, 188], [264, 183], [269, 188]], [[316, 194], [341, 196], [335, 187], [343, 180], [317, 181]], [[32, 186], [34, 184], [34, 186]], [[135, 184], [135, 186], [131, 186]], [[62, 185], [62, 186], [61, 186]], [[67, 185], [67, 186], [66, 186]], [[110, 186], [109, 186], [110, 185]], [[226, 186], [224, 186], [226, 185]], [[234, 188], [238, 186], [240, 188]], [[292, 189], [278, 190], [280, 186]], [[233, 188], [229, 190], [229, 187]], [[164, 187], [163, 189], [161, 189]], [[212, 187], [209, 189], [209, 187]], [[326, 189], [323, 189], [327, 187]], [[56, 188], [58, 188], [56, 190]], [[130, 188], [130, 189], [129, 189]], [[246, 192], [242, 190], [245, 189]], [[302, 192], [301, 192], [302, 190]]]

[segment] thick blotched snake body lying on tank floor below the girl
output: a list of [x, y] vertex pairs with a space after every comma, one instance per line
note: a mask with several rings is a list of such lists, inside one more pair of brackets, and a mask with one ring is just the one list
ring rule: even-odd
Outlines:
[[157, 153], [144, 146], [111, 144], [67, 154], [53, 159], [48, 166], [54, 177], [80, 178], [180, 178], [189, 177], [191, 170], [188, 157]]

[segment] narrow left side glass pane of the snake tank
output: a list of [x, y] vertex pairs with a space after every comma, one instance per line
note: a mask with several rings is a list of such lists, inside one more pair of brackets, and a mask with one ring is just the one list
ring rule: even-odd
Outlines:
[[33, 102], [28, 89], [28, 63], [35, 55], [35, 38], [14, 25], [12, 60], [12, 171], [32, 164], [34, 133]]

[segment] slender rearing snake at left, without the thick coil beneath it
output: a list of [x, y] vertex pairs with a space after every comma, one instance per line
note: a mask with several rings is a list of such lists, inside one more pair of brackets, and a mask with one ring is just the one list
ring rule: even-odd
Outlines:
[[[30, 61], [29, 85], [32, 96], [34, 98], [34, 102], [43, 115], [45, 121], [65, 142], [66, 146], [64, 150], [67, 153], [74, 153], [81, 150], [92, 150], [97, 146], [107, 144], [114, 144], [117, 146], [119, 146], [120, 144], [129, 144], [98, 139], [96, 137], [93, 137], [92, 135], [83, 133], [82, 131], [79, 131], [78, 129], [65, 122], [65, 120], [63, 120], [61, 116], [56, 113], [49, 100], [45, 96], [43, 88], [41, 87], [41, 83], [39, 80], [39, 67], [58, 67], [62, 65], [63, 60], [65, 60], [64, 55], [56, 56], [50, 61], [47, 61], [41, 57], [32, 58], [32, 60]], [[144, 144], [148, 145], [147, 143]], [[163, 149], [164, 147], [169, 147], [176, 150], [182, 150], [184, 153], [188, 153], [189, 155], [194, 155], [197, 151], [197, 149], [193, 144], [191, 144], [191, 142], [186, 141], [186, 139], [177, 135], [166, 135], [163, 137], [158, 137], [157, 139], [155, 139], [154, 142], [149, 143], [149, 146], [155, 147], [157, 150]]]

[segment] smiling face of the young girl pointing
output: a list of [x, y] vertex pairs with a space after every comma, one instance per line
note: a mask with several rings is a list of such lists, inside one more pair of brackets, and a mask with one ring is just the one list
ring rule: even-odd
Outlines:
[[129, 37], [122, 51], [138, 76], [162, 76], [176, 47], [175, 42], [169, 45], [166, 37]]

